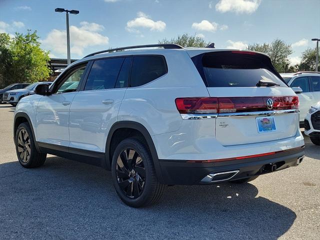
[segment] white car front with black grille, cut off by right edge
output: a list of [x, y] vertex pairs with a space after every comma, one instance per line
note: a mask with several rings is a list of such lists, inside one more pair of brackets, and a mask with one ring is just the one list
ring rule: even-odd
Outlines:
[[315, 145], [320, 145], [320, 101], [312, 105], [304, 118], [304, 134]]

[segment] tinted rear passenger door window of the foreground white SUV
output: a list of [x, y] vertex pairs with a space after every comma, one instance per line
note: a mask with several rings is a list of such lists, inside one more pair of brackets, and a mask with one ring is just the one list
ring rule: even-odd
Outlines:
[[123, 60], [123, 57], [95, 60], [84, 90], [114, 88]]

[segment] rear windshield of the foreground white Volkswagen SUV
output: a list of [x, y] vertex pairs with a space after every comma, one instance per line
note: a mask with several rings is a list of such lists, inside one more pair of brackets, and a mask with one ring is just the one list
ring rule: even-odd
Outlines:
[[259, 80], [287, 86], [278, 76], [269, 58], [262, 54], [219, 51], [192, 57], [208, 87], [251, 87]]

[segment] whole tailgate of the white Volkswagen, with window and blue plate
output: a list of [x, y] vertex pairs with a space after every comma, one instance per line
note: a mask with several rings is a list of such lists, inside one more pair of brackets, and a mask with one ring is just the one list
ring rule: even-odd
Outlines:
[[[209, 95], [217, 98], [215, 134], [222, 145], [271, 141], [296, 134], [297, 97], [280, 80], [269, 57], [246, 51], [216, 51], [192, 60]], [[263, 85], [265, 81], [276, 85]]]

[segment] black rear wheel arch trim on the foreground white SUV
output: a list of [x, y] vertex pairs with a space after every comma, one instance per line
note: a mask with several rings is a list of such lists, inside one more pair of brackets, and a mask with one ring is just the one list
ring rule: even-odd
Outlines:
[[112, 160], [111, 144], [112, 144], [112, 139], [114, 140], [113, 138], [115, 136], [114, 133], [119, 129], [132, 129], [135, 132], [136, 131], [139, 132], [144, 137], [145, 142], [151, 153], [157, 178], [160, 182], [163, 182], [162, 173], [161, 173], [160, 164], [159, 164], [159, 158], [156, 153], [156, 149], [155, 149], [153, 140], [151, 138], [151, 135], [141, 123], [138, 123], [135, 121], [118, 121], [111, 126], [109, 133], [107, 135], [106, 144], [105, 144], [105, 153], [106, 153], [105, 163], [106, 163], [107, 169], [111, 169], [111, 160]]

